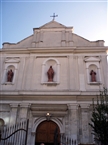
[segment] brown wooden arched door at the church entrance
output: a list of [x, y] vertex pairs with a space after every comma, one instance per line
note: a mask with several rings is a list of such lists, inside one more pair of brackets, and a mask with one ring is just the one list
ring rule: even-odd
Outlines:
[[58, 144], [60, 143], [60, 129], [53, 121], [43, 121], [40, 123], [36, 130], [35, 145], [45, 143], [45, 145], [54, 145], [55, 135]]

